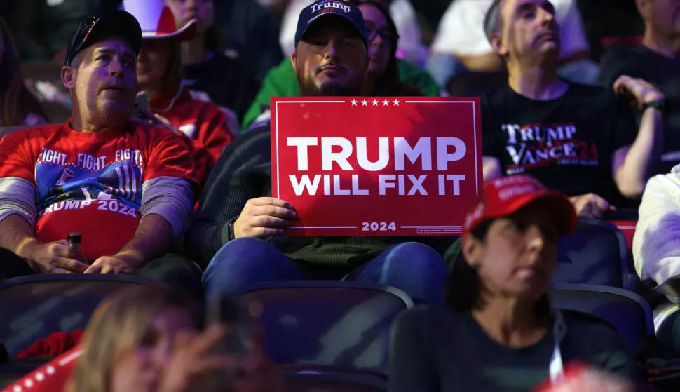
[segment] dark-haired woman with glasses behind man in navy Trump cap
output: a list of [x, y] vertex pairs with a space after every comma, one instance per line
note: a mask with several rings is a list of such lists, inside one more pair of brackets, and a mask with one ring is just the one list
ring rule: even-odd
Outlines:
[[366, 21], [370, 62], [364, 95], [377, 97], [416, 97], [421, 90], [404, 83], [397, 68], [399, 34], [389, 11], [372, 0], [348, 0], [358, 6]]

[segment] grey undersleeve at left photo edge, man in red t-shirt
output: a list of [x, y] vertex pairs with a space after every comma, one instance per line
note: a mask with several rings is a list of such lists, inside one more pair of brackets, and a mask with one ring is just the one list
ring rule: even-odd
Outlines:
[[24, 218], [30, 227], [35, 227], [36, 187], [21, 177], [0, 178], [0, 222], [10, 215]]

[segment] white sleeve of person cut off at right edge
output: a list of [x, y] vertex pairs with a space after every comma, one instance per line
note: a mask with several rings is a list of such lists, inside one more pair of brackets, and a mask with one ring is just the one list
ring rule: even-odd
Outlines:
[[658, 284], [680, 273], [680, 174], [676, 168], [647, 182], [633, 237], [635, 271]]

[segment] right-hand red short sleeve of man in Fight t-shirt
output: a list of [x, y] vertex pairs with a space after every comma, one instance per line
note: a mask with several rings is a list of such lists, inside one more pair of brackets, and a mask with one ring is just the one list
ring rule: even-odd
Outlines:
[[163, 128], [149, 128], [149, 156], [142, 180], [156, 177], [182, 177], [189, 182], [199, 183], [189, 147], [181, 137]]

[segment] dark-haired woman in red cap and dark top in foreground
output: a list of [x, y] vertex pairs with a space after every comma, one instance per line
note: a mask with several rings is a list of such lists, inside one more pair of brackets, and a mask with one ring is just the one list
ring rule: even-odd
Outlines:
[[551, 309], [559, 236], [576, 228], [569, 198], [513, 175], [484, 185], [468, 213], [448, 309], [416, 308], [393, 327], [390, 392], [531, 391], [569, 362], [634, 378], [608, 324]]

